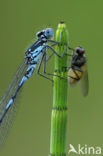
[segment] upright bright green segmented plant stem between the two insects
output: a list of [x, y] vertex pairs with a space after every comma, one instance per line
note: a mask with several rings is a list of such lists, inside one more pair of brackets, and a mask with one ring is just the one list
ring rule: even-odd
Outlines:
[[[61, 33], [61, 43], [56, 46], [58, 54], [62, 54], [68, 43], [68, 31], [64, 23], [58, 25], [56, 31], [56, 41], [59, 41]], [[66, 51], [65, 51], [66, 53]], [[67, 56], [62, 58], [55, 56], [55, 73], [60, 77], [54, 77], [53, 85], [53, 109], [51, 114], [51, 138], [50, 154], [52, 156], [66, 155], [66, 129], [67, 129]]]

